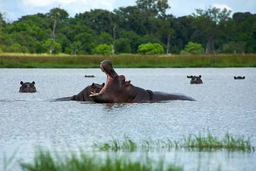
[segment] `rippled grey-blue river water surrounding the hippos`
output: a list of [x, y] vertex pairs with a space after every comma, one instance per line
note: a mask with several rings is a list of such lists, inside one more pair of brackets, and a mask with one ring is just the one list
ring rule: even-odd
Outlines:
[[[256, 68], [115, 69], [131, 84], [154, 91], [183, 93], [197, 101], [95, 104], [49, 101], [73, 96], [84, 87], [106, 81], [100, 69], [0, 69], [0, 168], [3, 155], [18, 149], [18, 159], [31, 161], [35, 146], [92, 149], [93, 142], [147, 139], [178, 140], [190, 133], [223, 138], [251, 136], [256, 146]], [[96, 78], [84, 78], [94, 75]], [[203, 84], [189, 84], [186, 75], [202, 75]], [[245, 76], [235, 80], [234, 76]], [[20, 81], [35, 81], [37, 93], [19, 93]], [[139, 152], [129, 153], [131, 156]], [[243, 152], [153, 151], [185, 171], [254, 171], [256, 157]]]

